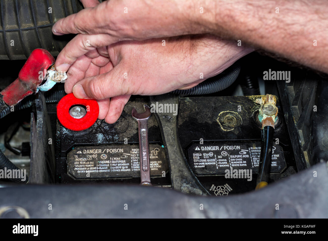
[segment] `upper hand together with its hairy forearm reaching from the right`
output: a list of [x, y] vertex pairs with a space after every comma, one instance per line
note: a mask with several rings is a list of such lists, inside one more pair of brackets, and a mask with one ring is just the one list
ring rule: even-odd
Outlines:
[[57, 70], [66, 71], [88, 51], [122, 40], [209, 33], [328, 73], [327, 0], [82, 2], [92, 3], [92, 8], [61, 19], [52, 28], [57, 35], [83, 33], [60, 52]]

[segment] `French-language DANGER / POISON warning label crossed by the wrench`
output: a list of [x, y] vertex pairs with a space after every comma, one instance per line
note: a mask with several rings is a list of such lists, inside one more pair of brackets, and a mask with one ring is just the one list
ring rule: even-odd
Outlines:
[[[168, 171], [165, 150], [158, 144], [149, 149], [150, 174], [162, 176]], [[67, 155], [67, 170], [75, 179], [140, 177], [139, 145], [75, 147]]]

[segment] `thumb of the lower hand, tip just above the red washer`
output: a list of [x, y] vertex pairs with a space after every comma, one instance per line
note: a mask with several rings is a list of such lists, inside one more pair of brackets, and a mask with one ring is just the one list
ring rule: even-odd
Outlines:
[[85, 78], [73, 86], [73, 94], [79, 99], [102, 100], [114, 96], [133, 94], [134, 85], [127, 78], [127, 70], [120, 64], [111, 71]]

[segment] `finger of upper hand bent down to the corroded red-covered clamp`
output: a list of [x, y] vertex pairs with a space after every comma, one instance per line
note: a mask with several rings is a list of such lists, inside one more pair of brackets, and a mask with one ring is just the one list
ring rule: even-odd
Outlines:
[[77, 58], [109, 44], [111, 43], [107, 34], [78, 34], [61, 50], [55, 68], [57, 71], [66, 72]]

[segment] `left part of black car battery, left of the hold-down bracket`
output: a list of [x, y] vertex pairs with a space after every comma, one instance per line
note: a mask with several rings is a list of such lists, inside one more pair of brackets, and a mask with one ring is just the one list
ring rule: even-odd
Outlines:
[[[119, 120], [97, 120], [90, 128], [72, 131], [57, 121], [56, 182], [140, 183], [138, 124], [131, 111], [148, 102], [130, 100]], [[168, 163], [154, 115], [149, 119], [150, 172], [154, 186], [169, 186]]]

